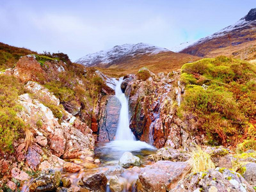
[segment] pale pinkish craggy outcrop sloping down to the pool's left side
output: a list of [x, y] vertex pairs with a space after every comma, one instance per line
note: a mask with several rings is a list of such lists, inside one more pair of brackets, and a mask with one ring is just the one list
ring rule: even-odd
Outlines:
[[[52, 154], [58, 157], [63, 156], [63, 158], [75, 158], [92, 154], [94, 147], [92, 130], [83, 125], [78, 119], [69, 115], [69, 122], [63, 120], [59, 124], [51, 109], [38, 100], [31, 99], [28, 94], [20, 95], [19, 103], [24, 107], [19, 116], [31, 125], [31, 132], [37, 138], [35, 141], [39, 145], [45, 145], [46, 141], [49, 141], [47, 145], [49, 145]], [[76, 124], [73, 124], [74, 121], [76, 121]], [[81, 130], [76, 129], [76, 127]], [[30, 150], [33, 150], [33, 148], [30, 148]], [[31, 152], [31, 159], [34, 159], [33, 162], [37, 162], [35, 166], [40, 163], [40, 158], [39, 156], [36, 157], [36, 154], [38, 154], [38, 151]]]

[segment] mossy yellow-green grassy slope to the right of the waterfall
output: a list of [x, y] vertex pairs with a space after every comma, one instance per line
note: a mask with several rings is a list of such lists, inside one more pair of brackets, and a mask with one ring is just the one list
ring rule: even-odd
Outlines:
[[187, 63], [179, 116], [196, 117], [209, 144], [236, 145], [256, 139], [256, 67], [225, 56]]

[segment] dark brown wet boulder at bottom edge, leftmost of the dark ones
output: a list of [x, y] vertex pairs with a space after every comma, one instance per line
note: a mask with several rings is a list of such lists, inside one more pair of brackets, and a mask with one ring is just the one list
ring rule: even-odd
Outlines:
[[55, 191], [60, 186], [60, 171], [49, 170], [41, 173], [29, 186], [29, 191]]

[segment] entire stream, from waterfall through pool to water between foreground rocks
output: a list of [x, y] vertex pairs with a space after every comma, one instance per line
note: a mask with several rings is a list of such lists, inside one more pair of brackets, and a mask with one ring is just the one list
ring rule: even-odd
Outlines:
[[[121, 90], [122, 81], [122, 77], [120, 77], [118, 81], [115, 80], [115, 97], [117, 97], [121, 104], [115, 140], [108, 143], [96, 143], [94, 159], [99, 159], [100, 163], [93, 163], [86, 159], [65, 159], [65, 161], [80, 164], [84, 167], [83, 170], [77, 173], [63, 172], [63, 168], [59, 168], [62, 176], [71, 180], [71, 187], [79, 186], [79, 180], [81, 180], [84, 173], [101, 172], [106, 175], [108, 180], [114, 175], [116, 175], [119, 180], [122, 180], [124, 183], [123, 192], [135, 191], [135, 183], [138, 179], [140, 168], [122, 168], [118, 165], [120, 157], [122, 157], [124, 152], [131, 152], [134, 156], [140, 157], [140, 167], [152, 164], [152, 161], [149, 161], [147, 157], [148, 155], [153, 154], [156, 148], [143, 141], [137, 141], [132, 133], [129, 127], [128, 100]], [[33, 181], [33, 179], [24, 185], [22, 191], [29, 191], [28, 186], [31, 181]], [[111, 191], [109, 189], [109, 182], [106, 186], [106, 191]]]

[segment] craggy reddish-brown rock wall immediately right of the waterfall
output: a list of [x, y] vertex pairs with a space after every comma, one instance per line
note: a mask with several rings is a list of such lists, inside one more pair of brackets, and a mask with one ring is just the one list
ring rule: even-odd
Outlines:
[[145, 80], [132, 79], [125, 95], [129, 97], [130, 127], [136, 138], [157, 148], [188, 148], [195, 141], [189, 131], [195, 129], [191, 120], [180, 120], [177, 108], [182, 100], [184, 87], [179, 83], [179, 73], [152, 72]]

